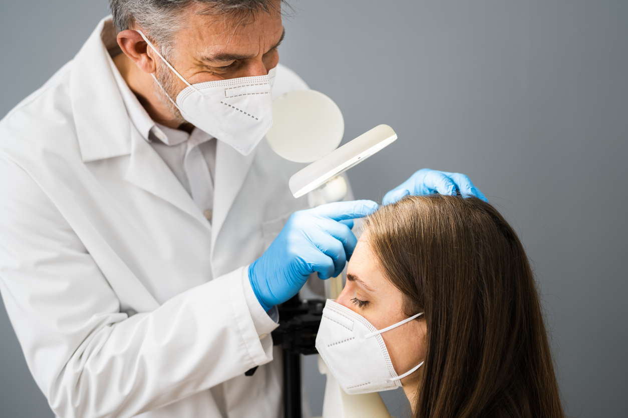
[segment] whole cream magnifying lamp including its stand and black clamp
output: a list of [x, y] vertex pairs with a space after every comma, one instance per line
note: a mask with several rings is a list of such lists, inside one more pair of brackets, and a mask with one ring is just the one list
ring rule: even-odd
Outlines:
[[[342, 201], [347, 196], [347, 183], [340, 174], [397, 139], [393, 128], [379, 125], [338, 148], [344, 131], [345, 123], [340, 109], [323, 93], [314, 90], [289, 91], [273, 102], [273, 127], [266, 133], [266, 140], [274, 152], [284, 159], [311, 163], [293, 175], [288, 182], [290, 191], [295, 197], [308, 195], [311, 207]], [[337, 298], [340, 291], [342, 276], [325, 281], [327, 298]], [[294, 316], [305, 306], [303, 311], [305, 316], [300, 317], [299, 330], [295, 332], [306, 333], [307, 321], [316, 318], [315, 315], [311, 315], [310, 308], [320, 305], [322, 309], [323, 301], [299, 301], [298, 296], [295, 298], [296, 300], [286, 303], [293, 302], [296, 305], [288, 306], [288, 310], [281, 316], [282, 318], [286, 318], [286, 314]], [[320, 315], [319, 311], [316, 313]], [[291, 323], [290, 321], [287, 323]], [[278, 330], [284, 330], [282, 327], [284, 325]], [[290, 329], [285, 328], [286, 332]], [[314, 332], [317, 329], [318, 324], [315, 325]], [[273, 332], [273, 340], [278, 340], [275, 338], [279, 337], [275, 335], [276, 332], [277, 330]], [[286, 347], [290, 345], [288, 343], [290, 341], [311, 340], [308, 338], [292, 336], [283, 340], [286, 342], [283, 355], [284, 415], [288, 418], [301, 417], [300, 353], [313, 352], [300, 352], [295, 347]], [[318, 367], [322, 374], [327, 375], [323, 415], [338, 418], [357, 418], [365, 415], [390, 418], [379, 394], [347, 395], [320, 358]]]

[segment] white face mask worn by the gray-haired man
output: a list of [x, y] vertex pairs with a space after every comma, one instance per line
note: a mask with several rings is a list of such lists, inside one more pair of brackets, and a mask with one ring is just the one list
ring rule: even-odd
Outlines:
[[268, 71], [268, 75], [190, 84], [161, 56], [141, 31], [138, 33], [168, 68], [187, 85], [178, 94], [175, 102], [152, 74], [185, 120], [229, 144], [240, 154], [251, 154], [273, 126], [271, 90], [276, 68]]

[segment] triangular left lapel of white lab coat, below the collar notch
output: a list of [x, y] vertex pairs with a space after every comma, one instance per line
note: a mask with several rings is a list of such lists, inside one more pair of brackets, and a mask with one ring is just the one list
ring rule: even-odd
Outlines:
[[131, 161], [124, 179], [198, 219], [210, 227], [207, 219], [168, 165], [134, 128], [131, 129]]

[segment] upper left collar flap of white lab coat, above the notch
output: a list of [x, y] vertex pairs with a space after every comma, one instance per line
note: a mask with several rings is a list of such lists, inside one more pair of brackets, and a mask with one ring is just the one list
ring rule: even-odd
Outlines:
[[100, 21], [78, 51], [70, 74], [72, 112], [84, 162], [131, 152], [131, 122], [102, 40], [111, 35], [107, 31], [115, 31], [111, 16]]

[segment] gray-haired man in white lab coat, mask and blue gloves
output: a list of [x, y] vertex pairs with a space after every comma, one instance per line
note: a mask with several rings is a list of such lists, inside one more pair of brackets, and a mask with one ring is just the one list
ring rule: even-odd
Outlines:
[[[110, 5], [0, 122], [0, 291], [28, 366], [59, 417], [279, 417], [276, 305], [339, 274], [377, 204], [308, 209], [262, 141], [271, 98], [307, 88], [278, 64], [280, 0]], [[420, 170], [387, 199], [435, 191], [479, 194]]]

